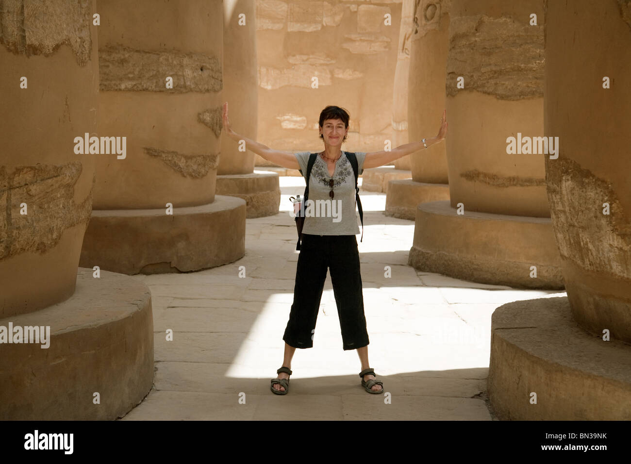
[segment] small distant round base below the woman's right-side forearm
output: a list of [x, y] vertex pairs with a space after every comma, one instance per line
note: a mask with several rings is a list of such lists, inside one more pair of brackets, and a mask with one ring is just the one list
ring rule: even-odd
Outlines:
[[412, 179], [388, 182], [386, 216], [415, 220], [416, 206], [428, 201], [449, 201], [448, 184], [425, 184]]

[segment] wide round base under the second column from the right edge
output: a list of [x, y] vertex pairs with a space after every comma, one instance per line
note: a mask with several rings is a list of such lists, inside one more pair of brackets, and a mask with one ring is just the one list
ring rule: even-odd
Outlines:
[[[464, 211], [449, 201], [416, 208], [408, 265], [472, 282], [563, 289], [550, 218]], [[536, 277], [531, 266], [536, 267]]]

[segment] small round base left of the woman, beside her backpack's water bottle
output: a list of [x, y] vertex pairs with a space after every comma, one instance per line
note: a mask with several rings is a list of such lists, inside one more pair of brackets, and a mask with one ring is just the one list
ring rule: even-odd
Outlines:
[[276, 172], [218, 175], [215, 194], [245, 200], [245, 217], [273, 216], [280, 207], [280, 184]]

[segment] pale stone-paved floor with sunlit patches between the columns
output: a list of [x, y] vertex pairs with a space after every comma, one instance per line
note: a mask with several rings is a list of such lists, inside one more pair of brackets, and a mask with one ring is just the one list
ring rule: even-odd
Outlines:
[[283, 361], [298, 258], [288, 198], [304, 191], [301, 177], [280, 182], [278, 215], [247, 220], [244, 258], [195, 273], [134, 276], [151, 289], [156, 372], [154, 388], [124, 420], [492, 420], [492, 312], [565, 294], [415, 271], [407, 265], [414, 223], [384, 216], [382, 193], [361, 193], [358, 244], [370, 365], [390, 395], [360, 386], [357, 353], [342, 350], [328, 275], [314, 348], [296, 350], [287, 395], [269, 391]]

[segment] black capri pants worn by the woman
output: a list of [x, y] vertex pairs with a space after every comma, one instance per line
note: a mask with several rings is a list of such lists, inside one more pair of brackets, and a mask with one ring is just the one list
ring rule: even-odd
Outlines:
[[302, 234], [293, 289], [292, 311], [283, 340], [295, 348], [312, 348], [326, 271], [331, 272], [344, 350], [369, 344], [363, 313], [362, 276], [355, 235]]

